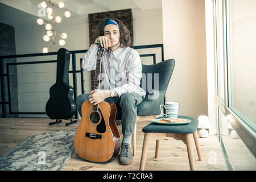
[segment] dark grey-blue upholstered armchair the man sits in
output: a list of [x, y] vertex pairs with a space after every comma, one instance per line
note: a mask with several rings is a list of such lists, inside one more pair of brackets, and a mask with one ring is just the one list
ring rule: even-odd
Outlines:
[[[142, 65], [142, 79], [140, 86], [146, 91], [146, 97], [144, 101], [137, 106], [137, 116], [160, 114], [160, 105], [164, 104], [166, 90], [168, 88], [172, 72], [174, 71], [174, 65], [174, 59], [165, 60], [152, 65]], [[121, 119], [121, 113], [122, 110], [118, 109], [115, 119]], [[136, 133], [137, 130], [135, 125], [133, 134], [133, 155], [135, 155], [136, 151]]]

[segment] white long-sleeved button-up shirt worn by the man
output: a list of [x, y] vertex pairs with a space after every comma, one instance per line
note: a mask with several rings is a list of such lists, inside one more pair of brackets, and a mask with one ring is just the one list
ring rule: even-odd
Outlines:
[[[89, 47], [82, 59], [82, 69], [96, 69], [98, 46]], [[141, 57], [135, 49], [119, 47], [115, 51], [108, 49], [101, 58], [102, 74], [99, 89], [115, 90], [120, 97], [123, 93], [138, 93], [143, 98], [146, 92], [139, 87], [142, 77]], [[103, 78], [103, 79], [102, 79]]]

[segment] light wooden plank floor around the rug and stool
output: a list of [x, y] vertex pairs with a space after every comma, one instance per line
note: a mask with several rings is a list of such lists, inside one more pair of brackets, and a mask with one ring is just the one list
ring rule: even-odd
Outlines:
[[[142, 128], [150, 123], [151, 117], [140, 117], [137, 120], [137, 155], [134, 156], [133, 163], [128, 166], [122, 166], [116, 156], [106, 163], [93, 163], [79, 158], [76, 152], [73, 152], [66, 170], [127, 170], [138, 171], [141, 160], [141, 151], [144, 133]], [[46, 118], [0, 118], [0, 155], [14, 148], [29, 135], [49, 133], [59, 130], [77, 128], [80, 120], [72, 125], [65, 126], [69, 122], [63, 120], [62, 123], [49, 126], [51, 119]], [[118, 126], [121, 133], [121, 126]], [[122, 134], [121, 134], [122, 136]], [[221, 146], [217, 135], [209, 135], [208, 138], [199, 138], [202, 161], [198, 160], [195, 143], [193, 144], [193, 155], [195, 157], [196, 169], [200, 171], [222, 171], [226, 170], [225, 160], [222, 155]], [[149, 144], [145, 170], [152, 171], [177, 171], [189, 170], [187, 147], [180, 140], [168, 138], [160, 141], [159, 158], [155, 158], [155, 142]]]

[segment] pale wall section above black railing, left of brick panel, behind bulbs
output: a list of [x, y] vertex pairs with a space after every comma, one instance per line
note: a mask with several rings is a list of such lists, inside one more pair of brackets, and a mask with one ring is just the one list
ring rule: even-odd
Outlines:
[[[76, 24], [69, 26], [68, 24], [54, 24], [57, 33], [61, 34], [66, 32], [68, 38], [65, 39], [66, 44], [63, 46], [66, 49], [80, 50], [87, 49], [89, 46], [89, 24]], [[16, 41], [16, 53], [42, 53], [43, 47], [47, 47], [49, 42], [43, 40], [43, 36], [46, 35], [46, 29], [44, 26], [38, 24], [31, 24], [30, 26], [18, 26], [15, 27], [15, 41]], [[56, 36], [56, 40], [60, 38]], [[55, 46], [49, 47], [49, 52], [56, 52], [61, 46], [58, 41]]]

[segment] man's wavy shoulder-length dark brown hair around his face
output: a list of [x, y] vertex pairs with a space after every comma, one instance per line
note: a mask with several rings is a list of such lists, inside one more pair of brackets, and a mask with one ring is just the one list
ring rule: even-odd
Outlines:
[[115, 19], [115, 18], [104, 18], [102, 19], [96, 29], [93, 32], [93, 40], [95, 40], [98, 36], [104, 36], [104, 25], [106, 20], [108, 19], [113, 19], [115, 20], [118, 25], [119, 25], [119, 32], [120, 32], [120, 43], [123, 47], [130, 47], [131, 46], [131, 36], [130, 36], [130, 31], [128, 30], [128, 28], [125, 26], [125, 24], [123, 24], [123, 22], [121, 20]]

